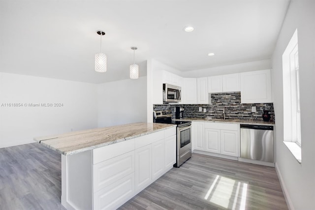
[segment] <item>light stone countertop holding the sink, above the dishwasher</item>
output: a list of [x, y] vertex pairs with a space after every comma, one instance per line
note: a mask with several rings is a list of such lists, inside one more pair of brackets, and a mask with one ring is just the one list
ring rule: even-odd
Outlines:
[[185, 119], [175, 119], [176, 121], [197, 121], [197, 122], [223, 122], [223, 123], [235, 123], [235, 124], [250, 124], [250, 125], [272, 125], [273, 122], [265, 122], [259, 120], [238, 120], [238, 119], [206, 119], [206, 118], [185, 118]]

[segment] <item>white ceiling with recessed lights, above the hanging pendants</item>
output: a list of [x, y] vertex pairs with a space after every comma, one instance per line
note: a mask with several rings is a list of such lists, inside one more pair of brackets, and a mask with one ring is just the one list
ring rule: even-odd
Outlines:
[[[269, 59], [290, 0], [0, 0], [0, 71], [102, 83], [146, 60], [181, 71]], [[184, 32], [185, 26], [194, 31]], [[94, 56], [107, 55], [107, 72]], [[209, 57], [207, 54], [216, 55]]]

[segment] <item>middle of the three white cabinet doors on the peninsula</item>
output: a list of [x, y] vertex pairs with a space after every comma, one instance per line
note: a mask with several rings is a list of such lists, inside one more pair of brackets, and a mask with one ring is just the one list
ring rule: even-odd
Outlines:
[[152, 179], [158, 179], [164, 172], [164, 139], [152, 144]]

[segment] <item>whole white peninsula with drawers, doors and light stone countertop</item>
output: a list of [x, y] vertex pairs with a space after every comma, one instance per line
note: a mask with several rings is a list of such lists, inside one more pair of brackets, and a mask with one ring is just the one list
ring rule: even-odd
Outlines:
[[125, 125], [36, 137], [62, 154], [62, 205], [68, 210], [116, 209], [176, 162], [176, 126]]

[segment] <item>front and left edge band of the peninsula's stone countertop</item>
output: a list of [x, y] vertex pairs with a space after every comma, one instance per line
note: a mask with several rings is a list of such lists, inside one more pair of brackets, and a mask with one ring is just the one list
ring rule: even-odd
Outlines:
[[120, 138], [120, 139], [114, 139], [114, 140], [109, 141], [109, 142], [96, 144], [96, 145], [93, 145], [93, 146], [89, 146], [89, 147], [85, 147], [85, 148], [81, 148], [81, 149], [77, 149], [77, 150], [63, 151], [63, 150], [59, 150], [59, 149], [56, 149], [54, 147], [51, 147], [49, 144], [45, 144], [45, 140], [58, 139], [58, 135], [47, 136], [47, 139], [45, 139], [44, 137], [35, 137], [33, 140], [38, 142], [38, 143], [40, 143], [41, 145], [51, 149], [51, 150], [57, 151], [57, 152], [67, 156], [67, 155], [72, 155], [72, 154], [76, 154], [76, 153], [80, 153], [80, 152], [84, 152], [84, 151], [88, 151], [88, 150], [94, 150], [94, 149], [97, 149], [97, 148], [100, 148], [100, 147], [104, 147], [104, 146], [108, 146], [108, 145], [124, 142], [124, 141], [130, 140], [130, 139], [138, 138], [140, 136], [145, 136], [145, 135], [148, 135], [148, 134], [151, 134], [151, 133], [155, 133], [155, 132], [166, 130], [166, 129], [169, 129], [169, 128], [172, 128], [172, 127], [176, 127], [176, 125], [173, 125], [173, 124], [163, 124], [163, 125], [165, 126], [163, 128], [159, 128], [159, 129], [152, 130], [152, 131], [149, 131], [149, 132], [143, 132], [143, 133], [132, 135], [132, 136], [127, 136], [127, 137]]

